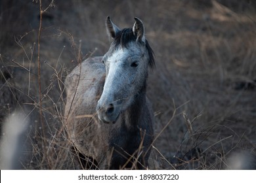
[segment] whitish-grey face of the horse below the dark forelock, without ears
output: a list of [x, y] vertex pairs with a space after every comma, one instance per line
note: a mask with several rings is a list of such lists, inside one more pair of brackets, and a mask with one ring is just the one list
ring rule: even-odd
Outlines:
[[115, 122], [146, 86], [148, 64], [143, 48], [130, 42], [127, 48], [110, 48], [103, 57], [106, 80], [97, 105], [98, 118], [103, 122]]

